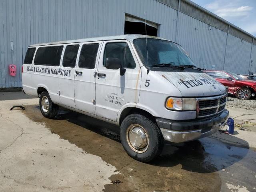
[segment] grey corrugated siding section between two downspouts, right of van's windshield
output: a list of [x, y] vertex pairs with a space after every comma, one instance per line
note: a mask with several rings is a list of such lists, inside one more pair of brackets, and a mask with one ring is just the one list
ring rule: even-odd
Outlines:
[[184, 13], [179, 15], [177, 42], [188, 52], [200, 68], [222, 69], [226, 45], [226, 32], [210, 27]]

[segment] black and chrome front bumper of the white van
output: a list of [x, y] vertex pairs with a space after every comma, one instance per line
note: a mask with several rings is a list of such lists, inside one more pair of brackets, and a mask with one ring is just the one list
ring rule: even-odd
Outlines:
[[197, 140], [206, 136], [210, 136], [217, 132], [228, 118], [228, 110], [222, 113], [204, 118], [190, 121], [174, 121], [164, 118], [156, 118], [156, 122], [160, 127], [164, 140], [181, 143]]

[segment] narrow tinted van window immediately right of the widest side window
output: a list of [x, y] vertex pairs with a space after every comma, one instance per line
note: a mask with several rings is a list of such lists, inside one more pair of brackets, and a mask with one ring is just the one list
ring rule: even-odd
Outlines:
[[68, 45], [66, 46], [62, 66], [64, 67], [75, 67], [76, 66], [76, 56], [78, 52], [79, 45]]

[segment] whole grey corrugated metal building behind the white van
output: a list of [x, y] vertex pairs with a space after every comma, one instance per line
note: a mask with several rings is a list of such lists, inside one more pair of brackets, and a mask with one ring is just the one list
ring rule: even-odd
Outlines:
[[0, 88], [22, 86], [28, 45], [124, 34], [127, 18], [181, 44], [198, 67], [256, 70], [256, 37], [189, 0], [0, 0]]

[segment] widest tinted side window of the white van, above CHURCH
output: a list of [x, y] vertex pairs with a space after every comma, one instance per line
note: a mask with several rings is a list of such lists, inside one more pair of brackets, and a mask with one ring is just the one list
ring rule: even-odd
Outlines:
[[59, 66], [63, 46], [40, 47], [36, 52], [35, 65]]

